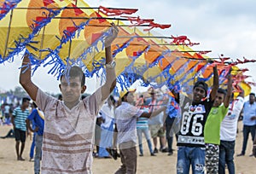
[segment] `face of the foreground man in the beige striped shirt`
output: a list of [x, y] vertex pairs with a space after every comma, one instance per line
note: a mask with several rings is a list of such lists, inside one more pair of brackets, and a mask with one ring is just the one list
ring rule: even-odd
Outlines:
[[79, 77], [69, 78], [67, 82], [66, 78], [61, 78], [60, 90], [64, 102], [77, 102], [83, 93], [81, 79]]

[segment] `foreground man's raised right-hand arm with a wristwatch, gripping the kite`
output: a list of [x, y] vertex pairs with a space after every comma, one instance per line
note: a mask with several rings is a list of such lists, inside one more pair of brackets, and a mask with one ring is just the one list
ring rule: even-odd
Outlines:
[[[106, 64], [113, 61], [112, 52], [111, 52], [111, 44], [113, 40], [118, 35], [118, 28], [113, 26], [113, 35], [106, 38], [105, 41], [105, 54], [106, 54]], [[114, 68], [106, 68], [106, 83], [102, 85], [102, 101], [108, 98], [109, 94], [113, 91], [116, 84], [116, 75]]]

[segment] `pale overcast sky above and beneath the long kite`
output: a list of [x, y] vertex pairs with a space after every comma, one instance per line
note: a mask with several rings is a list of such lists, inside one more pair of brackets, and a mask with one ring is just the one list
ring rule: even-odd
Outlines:
[[[138, 9], [133, 16], [139, 15], [145, 19], [152, 18], [156, 23], [172, 25], [165, 31], [156, 30], [156, 32], [165, 36], [186, 35], [192, 42], [200, 43], [192, 49], [212, 50], [212, 53], [207, 54], [210, 57], [223, 54], [234, 60], [243, 56], [247, 59], [256, 59], [256, 1], [254, 0], [89, 0], [85, 2], [91, 7], [102, 5]], [[9, 90], [20, 85], [19, 66], [19, 58], [13, 63], [0, 65], [0, 89]], [[247, 75], [253, 76], [253, 72], [254, 74], [256, 72], [253, 63], [239, 67], [249, 68]], [[58, 93], [59, 83], [47, 72], [47, 68], [41, 68], [35, 73], [33, 81], [40, 85], [42, 90]], [[247, 80], [256, 82], [256, 76]], [[91, 84], [91, 81], [87, 84]], [[89, 85], [88, 92], [94, 89], [95, 86]]]

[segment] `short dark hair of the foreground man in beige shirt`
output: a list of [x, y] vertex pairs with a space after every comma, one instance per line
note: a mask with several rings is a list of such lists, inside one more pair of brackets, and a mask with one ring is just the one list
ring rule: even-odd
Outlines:
[[85, 84], [85, 75], [81, 67], [78, 67], [78, 66], [71, 67], [69, 70], [67, 70], [66, 73], [61, 74], [61, 78], [63, 78], [64, 76], [67, 76], [68, 78], [79, 77], [81, 79], [81, 86], [84, 86]]

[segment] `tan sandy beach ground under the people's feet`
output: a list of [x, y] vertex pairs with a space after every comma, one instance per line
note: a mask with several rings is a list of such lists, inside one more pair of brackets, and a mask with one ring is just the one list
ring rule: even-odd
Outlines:
[[[236, 139], [236, 154], [241, 152], [242, 144], [242, 124], [239, 122], [239, 133]], [[12, 126], [1, 125], [0, 126], [0, 136], [5, 136], [7, 132], [12, 128]], [[33, 162], [29, 161], [29, 150], [31, 145], [31, 140], [28, 137], [26, 139], [26, 147], [23, 153], [23, 158], [25, 161], [18, 161], [15, 154], [15, 139], [6, 138], [0, 139], [0, 173], [1, 174], [26, 174], [33, 173]], [[256, 159], [249, 157], [252, 153], [253, 142], [251, 137], [247, 143], [247, 152], [245, 156], [236, 157], [236, 173], [255, 173], [256, 172]], [[174, 154], [168, 156], [164, 153], [158, 153], [157, 156], [151, 157], [148, 152], [147, 143], [143, 143], [144, 156], [137, 157], [137, 173], [176, 173], [176, 161], [177, 161], [177, 147], [176, 142], [174, 142]], [[120, 160], [113, 159], [94, 159], [93, 162], [93, 173], [114, 173], [119, 168]], [[228, 173], [228, 172], [227, 172]]]

